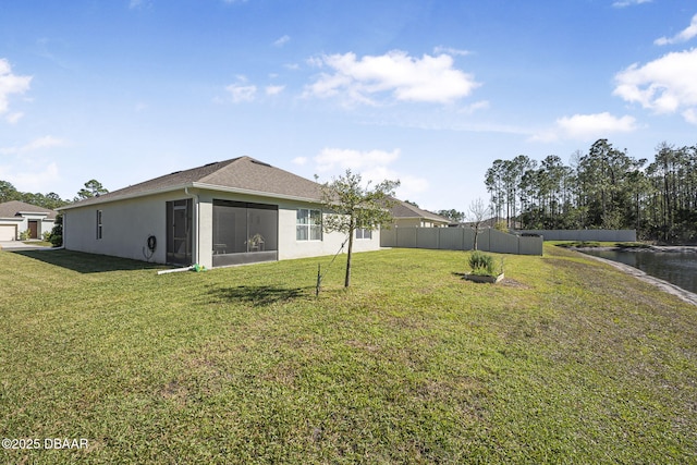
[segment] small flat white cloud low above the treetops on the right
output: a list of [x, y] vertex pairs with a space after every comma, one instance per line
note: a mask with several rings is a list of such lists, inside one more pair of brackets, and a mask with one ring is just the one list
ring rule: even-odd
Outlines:
[[554, 127], [545, 130], [530, 137], [537, 142], [559, 139], [588, 140], [607, 137], [615, 133], [631, 133], [637, 130], [636, 119], [629, 115], [613, 117], [608, 112], [594, 114], [574, 114], [557, 120]]

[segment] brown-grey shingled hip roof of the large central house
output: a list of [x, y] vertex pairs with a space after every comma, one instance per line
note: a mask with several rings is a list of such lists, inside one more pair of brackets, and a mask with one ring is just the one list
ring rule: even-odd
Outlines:
[[208, 163], [191, 170], [175, 171], [119, 191], [101, 194], [98, 197], [87, 198], [60, 209], [140, 197], [185, 187], [211, 188], [310, 201], [320, 201], [321, 198], [320, 186], [316, 182], [271, 167], [250, 157], [239, 157]]

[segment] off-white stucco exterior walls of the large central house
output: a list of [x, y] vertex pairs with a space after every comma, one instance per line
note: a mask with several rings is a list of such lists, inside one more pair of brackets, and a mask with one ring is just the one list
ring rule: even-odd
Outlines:
[[[63, 220], [65, 248], [146, 260], [144, 252], [147, 252], [147, 238], [149, 235], [155, 235], [158, 246], [149, 261], [163, 264], [167, 252], [166, 203], [194, 196], [197, 196], [198, 205], [196, 197], [194, 197], [193, 221], [198, 224], [200, 235], [192, 237], [193, 260], [208, 268], [212, 268], [213, 199], [278, 205], [278, 257], [280, 260], [333, 255], [345, 240], [345, 236], [339, 233], [323, 233], [321, 241], [296, 240], [297, 209], [319, 209], [318, 205], [213, 191], [189, 189], [188, 193], [189, 196], [184, 191], [179, 191], [69, 209], [64, 211]], [[97, 238], [97, 210], [102, 211], [102, 238], [100, 240]], [[354, 252], [377, 250], [379, 248], [379, 231], [372, 232], [371, 240], [354, 241]]]

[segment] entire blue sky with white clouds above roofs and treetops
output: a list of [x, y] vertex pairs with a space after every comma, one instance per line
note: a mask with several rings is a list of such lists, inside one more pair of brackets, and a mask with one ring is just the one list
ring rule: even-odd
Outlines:
[[694, 0], [3, 0], [0, 180], [72, 198], [243, 155], [432, 210], [497, 158], [697, 144]]

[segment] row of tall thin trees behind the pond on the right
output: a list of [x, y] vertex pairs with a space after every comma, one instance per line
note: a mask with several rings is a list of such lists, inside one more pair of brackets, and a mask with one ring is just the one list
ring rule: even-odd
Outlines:
[[646, 240], [697, 240], [697, 147], [662, 143], [649, 162], [599, 139], [571, 166], [555, 155], [496, 160], [485, 183], [509, 228], [636, 229]]

